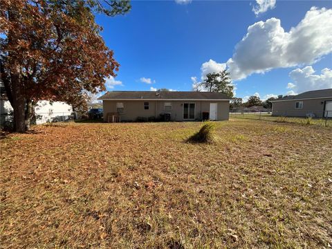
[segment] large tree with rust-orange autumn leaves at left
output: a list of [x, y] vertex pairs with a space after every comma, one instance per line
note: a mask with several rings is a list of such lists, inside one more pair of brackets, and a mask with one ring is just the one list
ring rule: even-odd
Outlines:
[[105, 89], [119, 64], [104, 44], [93, 12], [130, 10], [128, 1], [1, 0], [1, 82], [14, 109], [14, 129], [30, 127], [38, 100], [77, 107], [86, 91]]

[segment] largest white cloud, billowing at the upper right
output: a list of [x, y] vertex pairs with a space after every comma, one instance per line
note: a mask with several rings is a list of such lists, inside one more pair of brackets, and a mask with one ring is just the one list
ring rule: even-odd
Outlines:
[[313, 64], [331, 52], [332, 9], [312, 7], [289, 32], [276, 18], [249, 26], [227, 66], [232, 80], [241, 80], [273, 68]]

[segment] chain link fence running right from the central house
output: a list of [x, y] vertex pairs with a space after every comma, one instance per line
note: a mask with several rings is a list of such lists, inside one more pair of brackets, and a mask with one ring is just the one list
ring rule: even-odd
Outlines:
[[299, 124], [315, 124], [332, 127], [332, 111], [230, 111], [230, 118], [267, 120], [275, 122], [293, 122]]

